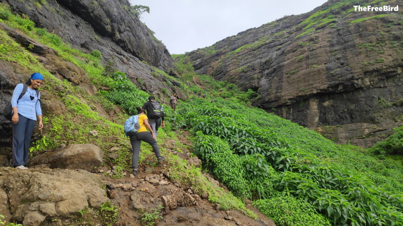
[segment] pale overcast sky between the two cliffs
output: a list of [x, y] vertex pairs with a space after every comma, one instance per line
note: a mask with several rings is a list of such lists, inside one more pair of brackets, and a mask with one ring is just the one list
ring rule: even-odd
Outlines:
[[307, 13], [326, 0], [129, 0], [150, 7], [140, 20], [171, 54], [211, 46], [249, 28]]

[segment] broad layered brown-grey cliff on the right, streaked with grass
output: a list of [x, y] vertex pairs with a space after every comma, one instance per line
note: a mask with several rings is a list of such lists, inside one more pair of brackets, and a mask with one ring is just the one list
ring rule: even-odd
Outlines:
[[328, 1], [187, 56], [198, 73], [257, 91], [254, 104], [268, 112], [370, 147], [401, 125], [401, 21], [400, 12]]

